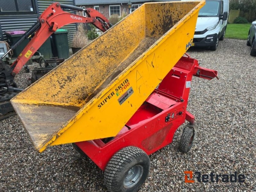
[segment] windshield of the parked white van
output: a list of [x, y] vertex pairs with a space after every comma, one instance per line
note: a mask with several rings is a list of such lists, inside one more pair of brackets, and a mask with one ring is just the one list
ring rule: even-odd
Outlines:
[[198, 17], [215, 17], [219, 11], [219, 1], [206, 1], [206, 4], [200, 9]]

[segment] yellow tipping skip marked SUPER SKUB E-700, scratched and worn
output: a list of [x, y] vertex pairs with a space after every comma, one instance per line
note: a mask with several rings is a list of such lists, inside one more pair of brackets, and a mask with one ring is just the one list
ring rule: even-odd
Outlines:
[[204, 4], [143, 4], [13, 98], [36, 149], [116, 136], [188, 50]]

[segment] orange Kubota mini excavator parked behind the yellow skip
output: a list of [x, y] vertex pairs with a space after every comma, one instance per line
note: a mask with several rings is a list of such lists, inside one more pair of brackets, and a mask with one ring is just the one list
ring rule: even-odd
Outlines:
[[[72, 14], [66, 11], [85, 11], [87, 17]], [[42, 44], [54, 33], [70, 23], [91, 23], [96, 28], [105, 32], [112, 25], [109, 20], [100, 12], [88, 8], [76, 7], [60, 3], [51, 4], [39, 17], [37, 22], [20, 37], [0, 59], [0, 120], [15, 114], [10, 99], [22, 91], [17, 88], [14, 80], [16, 74], [20, 72], [27, 61], [35, 54]], [[13, 62], [11, 67], [3, 62], [3, 58], [14, 50], [26, 38], [34, 37], [30, 40], [24, 50], [20, 53], [17, 60]]]

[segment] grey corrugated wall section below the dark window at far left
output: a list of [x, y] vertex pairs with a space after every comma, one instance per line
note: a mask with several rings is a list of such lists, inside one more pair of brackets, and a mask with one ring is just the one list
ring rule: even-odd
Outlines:
[[[14, 31], [14, 30], [28, 30], [38, 19], [36, 14], [34, 15], [1, 15], [0, 24], [3, 31]], [[6, 35], [4, 35], [6, 40]]]

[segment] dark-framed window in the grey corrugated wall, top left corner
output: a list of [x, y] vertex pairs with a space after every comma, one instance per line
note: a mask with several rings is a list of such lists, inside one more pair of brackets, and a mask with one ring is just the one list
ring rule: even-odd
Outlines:
[[35, 14], [34, 0], [0, 0], [1, 15]]

